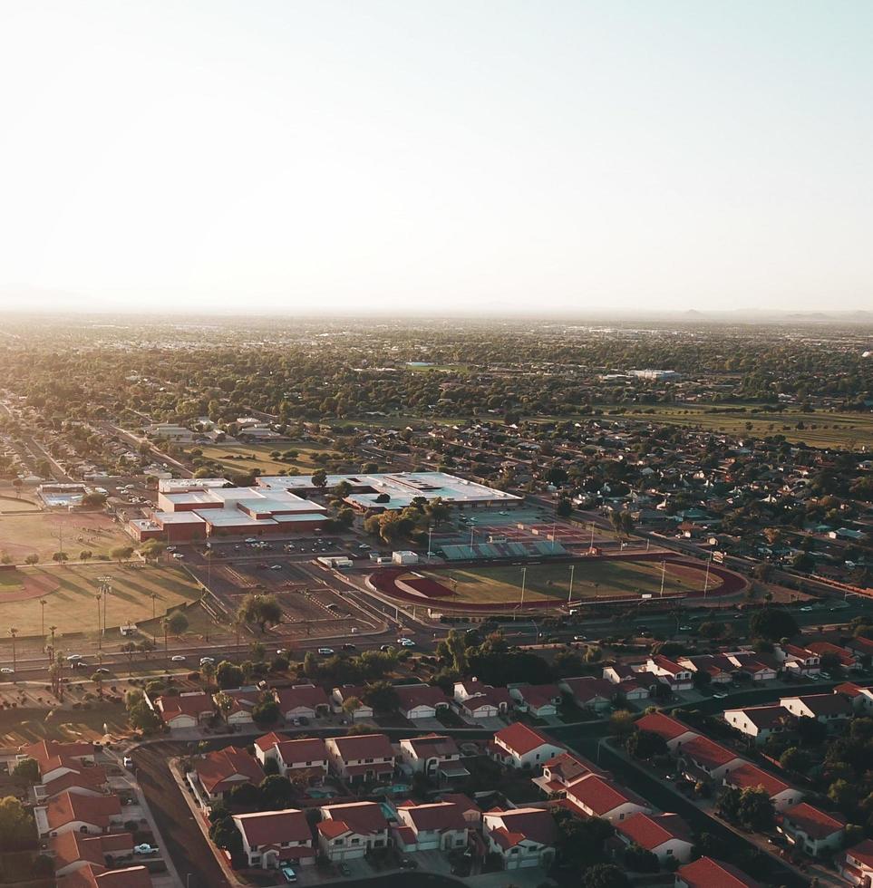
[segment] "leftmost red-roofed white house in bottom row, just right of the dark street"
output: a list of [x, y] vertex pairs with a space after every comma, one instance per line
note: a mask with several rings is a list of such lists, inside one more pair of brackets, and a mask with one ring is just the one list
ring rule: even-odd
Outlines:
[[313, 864], [312, 830], [303, 811], [256, 811], [235, 814], [233, 825], [242, 837], [247, 865], [277, 869], [282, 864]]

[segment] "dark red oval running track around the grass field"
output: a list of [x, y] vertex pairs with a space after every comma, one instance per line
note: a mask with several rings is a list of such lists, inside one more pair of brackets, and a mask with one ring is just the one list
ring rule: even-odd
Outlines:
[[[698, 562], [690, 561], [686, 558], [683, 558], [679, 555], [664, 555], [663, 553], [642, 553], [639, 555], [601, 555], [597, 558], [585, 558], [585, 559], [555, 559], [558, 563], [569, 564], [571, 562], [578, 564], [590, 563], [592, 561], [604, 562], [604, 561], [624, 561], [624, 562], [666, 562], [667, 565], [671, 566], [671, 572], [676, 571], [681, 574], [703, 574], [706, 571], [706, 565], [700, 564]], [[451, 566], [439, 567], [439, 568], [429, 568], [429, 573], [431, 574], [439, 574], [446, 573], [448, 574], [451, 569], [455, 569], [460, 567], [461, 565], [453, 564]], [[467, 565], [472, 566], [472, 565]], [[482, 565], [475, 565], [482, 566]], [[385, 568], [383, 570], [377, 571], [367, 578], [367, 583], [375, 590], [376, 592], [388, 595], [391, 598], [397, 599], [399, 601], [414, 603], [414, 604], [432, 604], [436, 607], [440, 607], [445, 610], [454, 610], [454, 611], [471, 611], [476, 613], [487, 613], [487, 612], [500, 612], [507, 610], [517, 610], [519, 609], [519, 603], [506, 601], [506, 602], [489, 602], [489, 603], [476, 603], [476, 602], [468, 602], [468, 601], [452, 601], [454, 594], [451, 591], [451, 588], [448, 584], [443, 585], [438, 580], [429, 579], [426, 577], [416, 577], [411, 576], [408, 568]], [[727, 570], [724, 567], [720, 567], [719, 565], [710, 565], [709, 567], [709, 575], [711, 584], [707, 590], [708, 597], [723, 597], [725, 595], [738, 594], [742, 592], [748, 582], [743, 578], [740, 574], [735, 574], [733, 571]], [[416, 594], [417, 593], [417, 594]], [[684, 592], [681, 594], [673, 593], [673, 592], [664, 592], [661, 596], [656, 596], [658, 600], [660, 599], [673, 599], [673, 598], [685, 598], [685, 597], [702, 597], [703, 592], [695, 591], [695, 592]], [[581, 598], [574, 599], [572, 602], [567, 603], [566, 600], [561, 600], [556, 598], [548, 598], [548, 599], [540, 599], [540, 600], [529, 600], [524, 603], [525, 610], [543, 610], [543, 609], [560, 609], [567, 608], [567, 606], [584, 607], [587, 604], [621, 604], [621, 603], [637, 603], [641, 600], [651, 600], [651, 596], [649, 599], [643, 599], [641, 595], [618, 595], [612, 597], [600, 597], [600, 598]]]

